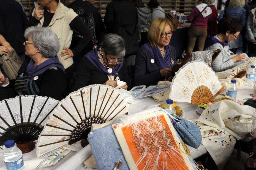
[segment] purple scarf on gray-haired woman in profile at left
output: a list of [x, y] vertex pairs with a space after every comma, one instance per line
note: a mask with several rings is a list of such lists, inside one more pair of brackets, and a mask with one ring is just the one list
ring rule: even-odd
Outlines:
[[27, 66], [27, 73], [28, 73], [28, 80], [27, 83], [32, 80], [35, 76], [41, 75], [44, 71], [52, 68], [52, 67], [59, 67], [63, 72], [65, 71], [64, 66], [60, 63], [58, 56], [54, 56], [49, 58], [48, 60], [44, 61], [39, 65], [34, 66], [35, 61], [31, 59]]

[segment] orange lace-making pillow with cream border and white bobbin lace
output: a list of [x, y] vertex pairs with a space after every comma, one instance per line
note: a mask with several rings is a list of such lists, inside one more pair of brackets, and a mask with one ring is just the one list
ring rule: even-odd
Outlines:
[[112, 128], [130, 169], [198, 169], [163, 111], [135, 114]]

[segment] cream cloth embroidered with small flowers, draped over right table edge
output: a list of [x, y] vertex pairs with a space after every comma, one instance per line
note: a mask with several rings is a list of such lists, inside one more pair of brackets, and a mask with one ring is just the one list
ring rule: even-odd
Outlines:
[[207, 107], [198, 120], [194, 121], [201, 130], [202, 144], [220, 170], [234, 149], [234, 137], [248, 138], [254, 112], [255, 108], [251, 106], [241, 106], [234, 101], [223, 100]]

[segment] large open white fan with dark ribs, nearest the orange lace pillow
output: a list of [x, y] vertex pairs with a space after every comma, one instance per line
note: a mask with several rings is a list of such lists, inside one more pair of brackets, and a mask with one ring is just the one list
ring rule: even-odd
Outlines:
[[42, 157], [64, 145], [81, 141], [88, 144], [92, 123], [104, 123], [127, 113], [127, 103], [107, 85], [90, 85], [69, 94], [52, 112], [37, 143], [37, 156]]

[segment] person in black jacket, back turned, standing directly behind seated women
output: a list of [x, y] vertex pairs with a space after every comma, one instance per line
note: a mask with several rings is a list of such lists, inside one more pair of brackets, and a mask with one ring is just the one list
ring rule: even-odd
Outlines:
[[116, 33], [124, 38], [126, 64], [134, 65], [139, 49], [137, 8], [127, 0], [113, 0], [107, 5], [104, 24], [108, 33]]

